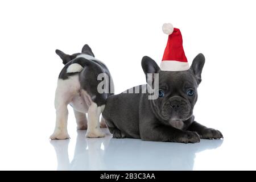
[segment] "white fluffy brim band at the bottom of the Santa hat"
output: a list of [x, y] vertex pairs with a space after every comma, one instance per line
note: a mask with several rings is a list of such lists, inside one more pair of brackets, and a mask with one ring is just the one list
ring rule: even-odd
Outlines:
[[162, 61], [160, 69], [162, 71], [185, 71], [189, 69], [189, 64], [181, 61]]

